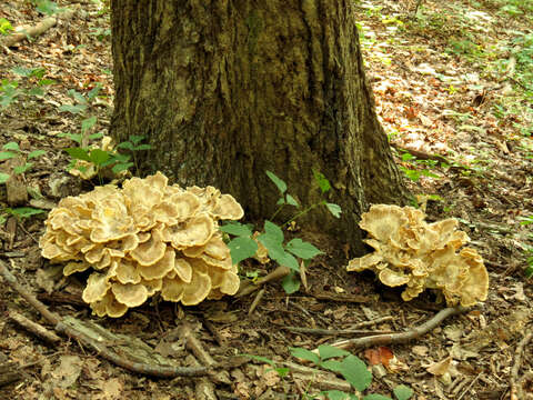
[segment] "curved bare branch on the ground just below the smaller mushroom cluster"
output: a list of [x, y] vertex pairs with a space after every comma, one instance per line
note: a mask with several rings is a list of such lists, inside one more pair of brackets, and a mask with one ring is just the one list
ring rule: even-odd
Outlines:
[[432, 319], [429, 321], [412, 328], [405, 332], [400, 333], [384, 333], [384, 334], [376, 334], [364, 338], [354, 338], [349, 340], [338, 341], [332, 343], [331, 346], [338, 347], [340, 349], [350, 349], [354, 347], [373, 347], [373, 346], [385, 346], [392, 343], [404, 343], [410, 340], [420, 338], [422, 334], [428, 333], [430, 330], [438, 327], [443, 320], [447, 317], [456, 316], [463, 313], [467, 310], [465, 307], [450, 307], [439, 311]]

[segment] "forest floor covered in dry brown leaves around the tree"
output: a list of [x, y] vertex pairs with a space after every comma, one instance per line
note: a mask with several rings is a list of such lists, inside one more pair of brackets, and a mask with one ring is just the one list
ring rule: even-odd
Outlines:
[[[526, 269], [533, 226], [523, 222], [533, 221], [533, 8], [511, 0], [423, 1], [414, 13], [414, 3], [358, 4], [368, 79], [412, 192], [430, 221], [460, 221], [484, 259], [490, 291], [479, 307], [410, 342], [350, 351], [373, 373], [364, 394], [405, 399], [401, 391], [393, 394], [405, 386], [419, 400], [495, 400], [512, 398], [514, 388], [531, 399], [533, 286]], [[0, 278], [0, 382], [12, 377], [0, 386], [1, 399], [203, 399], [209, 396], [199, 391], [209, 392], [213, 382], [219, 399], [353, 393], [342, 374], [318, 372], [290, 348], [402, 332], [445, 307], [432, 293], [402, 301], [401, 291], [380, 286], [371, 273], [346, 272], [343, 251], [322, 243], [326, 254], [309, 267], [306, 289], [288, 296], [279, 282], [269, 283], [253, 312], [254, 293], [189, 308], [144, 304], [120, 319], [91, 316], [80, 301], [80, 280], [58, 278], [41, 258], [46, 213], [36, 212], [90, 189], [66, 172], [69, 156], [62, 149], [76, 146], [64, 133], [80, 133], [82, 124], [93, 132], [109, 126], [109, 12], [98, 0], [59, 6], [77, 11], [32, 42], [0, 48], [0, 144], [16, 142], [19, 150], [4, 150], [26, 156], [43, 150], [26, 166], [23, 183], [32, 194], [26, 208], [8, 208], [0, 184], [0, 261], [61, 317], [95, 321], [179, 364], [194, 366], [180, 330], [187, 324], [214, 360], [233, 361], [209, 379], [163, 379], [117, 367], [77, 340], [63, 337], [49, 344], [13, 321], [18, 312], [52, 330]], [[50, 10], [51, 3], [41, 8]], [[44, 17], [30, 1], [4, 0], [0, 30], [2, 18], [18, 27]], [[87, 100], [94, 88], [98, 96]], [[249, 263], [247, 269], [263, 276], [273, 267]], [[240, 354], [257, 358], [235, 358]]]

